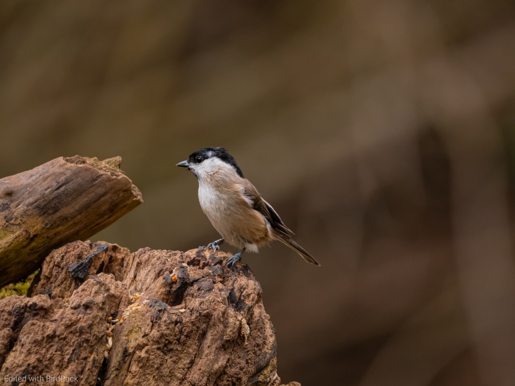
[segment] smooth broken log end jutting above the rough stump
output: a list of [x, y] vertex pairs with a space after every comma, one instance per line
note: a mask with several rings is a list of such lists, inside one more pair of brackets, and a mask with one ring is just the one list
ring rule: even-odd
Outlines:
[[88, 239], [143, 202], [118, 168], [121, 160], [59, 157], [0, 179], [0, 287], [35, 271], [53, 249]]

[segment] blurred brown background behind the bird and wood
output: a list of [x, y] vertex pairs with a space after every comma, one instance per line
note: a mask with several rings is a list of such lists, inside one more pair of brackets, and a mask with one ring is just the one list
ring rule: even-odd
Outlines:
[[187, 250], [228, 148], [322, 264], [244, 255], [303, 386], [515, 384], [514, 130], [511, 1], [0, 2], [0, 176], [121, 155], [93, 239]]

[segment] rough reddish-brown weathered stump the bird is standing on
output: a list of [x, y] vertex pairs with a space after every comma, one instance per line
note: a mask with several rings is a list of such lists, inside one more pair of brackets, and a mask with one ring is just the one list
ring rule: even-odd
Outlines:
[[227, 257], [64, 245], [45, 259], [29, 297], [0, 301], [0, 379], [279, 385], [261, 286], [246, 265], [224, 268]]

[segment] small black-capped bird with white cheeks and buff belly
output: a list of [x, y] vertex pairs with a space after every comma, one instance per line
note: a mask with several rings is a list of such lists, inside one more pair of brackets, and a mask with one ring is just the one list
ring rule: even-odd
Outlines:
[[190, 154], [176, 166], [189, 169], [198, 180], [198, 199], [204, 214], [222, 238], [207, 248], [216, 253], [227, 241], [240, 251], [226, 267], [235, 270], [245, 251], [258, 252], [270, 241], [279, 240], [315, 266], [320, 263], [297, 242], [294, 233], [266, 202], [252, 183], [243, 176], [234, 157], [222, 147], [205, 147]]

